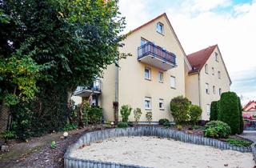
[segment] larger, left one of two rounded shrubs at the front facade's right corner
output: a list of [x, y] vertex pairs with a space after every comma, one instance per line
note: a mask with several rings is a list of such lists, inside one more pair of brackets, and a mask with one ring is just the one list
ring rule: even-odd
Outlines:
[[171, 114], [174, 122], [184, 122], [189, 119], [189, 110], [191, 102], [183, 96], [178, 96], [170, 101]]

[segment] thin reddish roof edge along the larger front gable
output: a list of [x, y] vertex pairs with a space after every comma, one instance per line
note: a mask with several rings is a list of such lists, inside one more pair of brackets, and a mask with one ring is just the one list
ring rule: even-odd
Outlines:
[[191, 68], [191, 66], [190, 66], [190, 62], [189, 62], [189, 61], [187, 60], [187, 58], [186, 58], [185, 50], [183, 49], [181, 42], [178, 40], [178, 36], [177, 36], [177, 34], [175, 33], [173, 26], [171, 26], [170, 20], [169, 20], [169, 18], [167, 17], [166, 13], [160, 14], [158, 17], [153, 18], [153, 19], [150, 20], [149, 22], [144, 23], [142, 26], [138, 26], [136, 29], [131, 30], [131, 31], [130, 31], [129, 33], [127, 33], [126, 35], [129, 36], [130, 34], [133, 34], [134, 32], [136, 32], [136, 31], [142, 29], [143, 27], [150, 25], [150, 23], [152, 23], [152, 22], [158, 20], [158, 18], [162, 18], [162, 17], [165, 17], [165, 18], [166, 18], [166, 21], [168, 22], [168, 25], [170, 26], [170, 29], [171, 29], [171, 30], [173, 31], [173, 33], [174, 33], [174, 38], [176, 38], [176, 40], [177, 40], [177, 42], [178, 42], [178, 45], [179, 45], [179, 46], [181, 47], [181, 49], [182, 49], [182, 53], [184, 54], [184, 59], [185, 59], [186, 65], [188, 66], [189, 70], [191, 70], [192, 68]]

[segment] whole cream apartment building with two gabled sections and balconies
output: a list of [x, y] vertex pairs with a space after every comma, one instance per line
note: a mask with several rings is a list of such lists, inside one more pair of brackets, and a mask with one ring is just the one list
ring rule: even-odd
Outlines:
[[[108, 66], [103, 78], [92, 86], [79, 86], [74, 93], [90, 97], [91, 104], [101, 106], [106, 121], [116, 118], [117, 102], [119, 113], [122, 105], [140, 108], [142, 122], [146, 122], [146, 111], [152, 111], [153, 122], [160, 118], [173, 121], [170, 100], [179, 95], [201, 106], [202, 118], [207, 119], [210, 102], [219, 98], [218, 93], [230, 90], [231, 81], [218, 46], [206, 49], [207, 54], [202, 50], [186, 57], [166, 14], [130, 31], [122, 43], [125, 46], [119, 51], [132, 56], [120, 60], [119, 67]], [[207, 71], [203, 73], [205, 65]], [[133, 113], [129, 120], [134, 121]]]

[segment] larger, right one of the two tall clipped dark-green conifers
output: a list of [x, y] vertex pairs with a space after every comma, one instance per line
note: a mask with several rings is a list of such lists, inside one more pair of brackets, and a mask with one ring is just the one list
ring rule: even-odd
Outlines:
[[231, 134], [239, 134], [240, 130], [240, 110], [238, 96], [234, 92], [226, 92], [218, 102], [218, 120], [226, 122], [231, 128]]

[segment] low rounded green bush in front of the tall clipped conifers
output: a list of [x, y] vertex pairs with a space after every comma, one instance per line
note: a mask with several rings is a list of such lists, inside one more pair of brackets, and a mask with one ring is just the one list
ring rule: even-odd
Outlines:
[[225, 122], [211, 121], [206, 124], [203, 134], [209, 138], [227, 138], [231, 134], [231, 130]]

